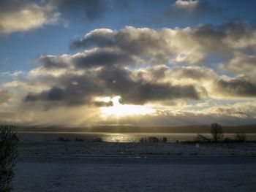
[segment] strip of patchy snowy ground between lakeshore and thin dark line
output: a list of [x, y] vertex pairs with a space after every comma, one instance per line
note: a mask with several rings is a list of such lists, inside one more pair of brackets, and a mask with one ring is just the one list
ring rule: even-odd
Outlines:
[[20, 155], [256, 155], [256, 143], [20, 142]]

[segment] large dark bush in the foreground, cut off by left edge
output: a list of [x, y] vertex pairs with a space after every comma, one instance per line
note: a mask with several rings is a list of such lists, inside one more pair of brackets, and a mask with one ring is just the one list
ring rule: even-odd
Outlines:
[[14, 126], [0, 126], [0, 131], [0, 191], [9, 192], [12, 189], [11, 180], [18, 155], [18, 137]]

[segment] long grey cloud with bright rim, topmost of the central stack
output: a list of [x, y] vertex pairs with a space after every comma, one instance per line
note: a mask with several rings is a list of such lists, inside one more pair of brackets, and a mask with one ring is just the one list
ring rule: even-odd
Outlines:
[[84, 38], [72, 42], [71, 47], [88, 48], [91, 45], [97, 47], [119, 47], [129, 54], [151, 56], [161, 55], [166, 51], [167, 39], [164, 31], [150, 28], [127, 27], [120, 31], [99, 29], [91, 31]]

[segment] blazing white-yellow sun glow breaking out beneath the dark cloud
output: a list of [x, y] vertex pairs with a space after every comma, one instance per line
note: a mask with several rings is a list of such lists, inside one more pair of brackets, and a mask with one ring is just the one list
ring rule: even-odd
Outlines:
[[155, 112], [155, 110], [148, 106], [143, 105], [132, 105], [132, 104], [120, 104], [120, 96], [115, 96], [113, 98], [104, 97], [97, 99], [98, 101], [112, 101], [113, 106], [111, 107], [101, 107], [100, 110], [102, 115], [105, 117], [115, 116], [124, 117], [129, 115], [146, 115]]

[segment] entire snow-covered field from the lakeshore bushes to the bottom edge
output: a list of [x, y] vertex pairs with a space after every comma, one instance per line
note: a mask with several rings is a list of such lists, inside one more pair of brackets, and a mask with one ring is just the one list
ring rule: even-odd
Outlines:
[[21, 142], [21, 191], [255, 191], [256, 144]]

